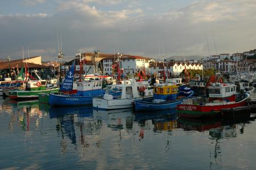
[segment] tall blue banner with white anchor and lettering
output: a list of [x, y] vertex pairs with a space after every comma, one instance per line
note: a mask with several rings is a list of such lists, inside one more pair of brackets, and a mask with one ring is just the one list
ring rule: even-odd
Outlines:
[[74, 71], [75, 71], [75, 62], [73, 62], [71, 68], [69, 69], [63, 83], [61, 84], [60, 91], [72, 91], [73, 90], [73, 81], [74, 81]]

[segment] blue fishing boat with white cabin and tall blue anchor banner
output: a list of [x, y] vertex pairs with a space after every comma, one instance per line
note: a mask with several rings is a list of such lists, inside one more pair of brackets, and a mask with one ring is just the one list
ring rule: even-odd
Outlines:
[[[73, 75], [75, 70], [75, 64], [71, 66], [68, 74], [65, 76], [64, 82], [61, 84], [60, 91], [72, 91], [73, 90]], [[55, 93], [49, 94], [49, 105], [53, 106], [76, 106], [76, 105], [92, 105], [93, 97], [102, 96], [105, 94], [103, 89], [103, 80], [84, 80], [77, 83], [77, 94], [68, 93]], [[113, 96], [120, 95], [120, 91], [111, 91]]]

